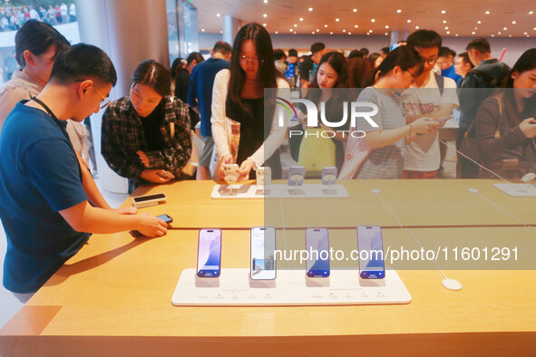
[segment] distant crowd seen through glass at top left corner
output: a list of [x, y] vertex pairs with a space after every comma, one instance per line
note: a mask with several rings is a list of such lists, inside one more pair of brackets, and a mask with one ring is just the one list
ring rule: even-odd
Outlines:
[[68, 24], [76, 21], [76, 5], [65, 3], [44, 6], [7, 6], [0, 7], [0, 31], [16, 31], [26, 21], [37, 20], [47, 24]]

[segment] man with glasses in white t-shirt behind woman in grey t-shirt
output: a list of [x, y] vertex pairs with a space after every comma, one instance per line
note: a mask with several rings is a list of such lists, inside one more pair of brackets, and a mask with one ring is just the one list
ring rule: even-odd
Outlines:
[[[406, 122], [427, 117], [443, 126], [460, 106], [456, 82], [433, 72], [441, 43], [441, 36], [431, 30], [418, 30], [407, 38], [407, 45], [423, 58], [424, 71], [401, 95]], [[436, 178], [440, 163], [437, 131], [421, 135], [405, 146], [404, 178]]]

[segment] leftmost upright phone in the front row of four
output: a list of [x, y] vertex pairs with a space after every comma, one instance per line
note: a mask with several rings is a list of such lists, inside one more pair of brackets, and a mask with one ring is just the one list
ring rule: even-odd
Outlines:
[[221, 259], [221, 231], [201, 229], [198, 246], [198, 276], [219, 276]]

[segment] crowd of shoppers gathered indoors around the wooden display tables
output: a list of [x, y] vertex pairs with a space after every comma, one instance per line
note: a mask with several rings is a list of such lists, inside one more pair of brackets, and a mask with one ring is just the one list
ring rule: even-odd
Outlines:
[[[195, 178], [212, 177], [214, 157], [220, 165], [238, 164], [242, 179], [255, 178], [260, 167], [282, 178], [279, 150], [292, 127], [280, 125], [276, 99], [289, 100], [291, 89], [326, 112], [329, 121], [311, 128], [307, 111], [297, 105], [295, 125], [336, 131], [325, 140], [326, 150], [345, 178], [436, 178], [438, 128], [455, 109], [461, 111], [460, 152], [470, 141], [478, 152], [461, 156], [461, 177], [533, 172], [536, 49], [522, 53], [512, 69], [492, 58], [483, 38], [466, 51], [456, 56], [439, 34], [418, 30], [378, 53], [362, 48], [346, 56], [314, 43], [311, 55], [298, 58], [296, 50], [274, 50], [261, 24], [246, 24], [232, 46], [216, 43], [206, 61], [190, 53], [171, 71], [151, 59], [140, 63], [129, 95], [111, 102], [116, 74], [102, 50], [70, 46], [51, 24], [26, 22], [15, 36], [21, 70], [0, 90], [5, 287], [26, 301], [90, 233], [166, 233], [157, 217], [135, 215], [133, 207], [112, 209], [96, 187], [81, 121], [102, 109], [102, 156], [129, 178], [131, 192], [142, 184], [194, 178], [184, 169], [198, 121], [204, 149]], [[355, 125], [330, 127], [353, 101], [375, 104], [375, 125], [357, 118]], [[343, 135], [350, 130], [365, 136]], [[307, 157], [306, 142], [289, 140], [298, 162], [317, 159]]]

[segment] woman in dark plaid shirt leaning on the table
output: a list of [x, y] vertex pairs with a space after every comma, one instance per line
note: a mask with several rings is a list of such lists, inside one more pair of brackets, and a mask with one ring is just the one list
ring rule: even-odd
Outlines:
[[102, 115], [102, 156], [129, 192], [142, 184], [188, 178], [181, 172], [191, 155], [188, 106], [170, 95], [171, 75], [161, 63], [140, 63], [130, 95]]

